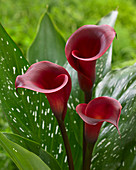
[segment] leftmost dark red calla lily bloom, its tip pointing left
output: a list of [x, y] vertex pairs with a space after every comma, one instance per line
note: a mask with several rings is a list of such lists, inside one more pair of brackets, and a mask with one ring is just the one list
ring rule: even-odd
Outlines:
[[63, 67], [49, 61], [35, 63], [25, 74], [17, 76], [15, 87], [44, 93], [56, 118], [64, 120], [71, 78]]

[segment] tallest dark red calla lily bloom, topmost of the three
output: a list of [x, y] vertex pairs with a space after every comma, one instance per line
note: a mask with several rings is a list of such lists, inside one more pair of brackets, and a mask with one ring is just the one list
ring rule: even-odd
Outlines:
[[116, 32], [109, 25], [85, 25], [68, 39], [65, 54], [78, 72], [80, 88], [90, 93], [95, 81], [95, 64], [110, 47]]

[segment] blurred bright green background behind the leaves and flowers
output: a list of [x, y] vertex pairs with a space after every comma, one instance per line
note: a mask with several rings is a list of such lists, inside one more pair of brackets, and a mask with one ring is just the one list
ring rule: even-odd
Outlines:
[[[96, 24], [118, 9], [112, 68], [136, 63], [136, 0], [0, 0], [0, 22], [26, 56], [40, 16], [48, 9], [61, 34], [68, 37], [80, 26]], [[10, 131], [0, 111], [0, 131]], [[0, 148], [0, 170], [16, 169]]]

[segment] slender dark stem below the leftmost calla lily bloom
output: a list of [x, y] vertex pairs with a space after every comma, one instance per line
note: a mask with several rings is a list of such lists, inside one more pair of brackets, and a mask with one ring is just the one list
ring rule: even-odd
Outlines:
[[57, 119], [57, 121], [58, 121], [60, 130], [61, 130], [61, 134], [62, 134], [62, 137], [63, 137], [63, 141], [64, 141], [64, 145], [65, 145], [65, 149], [66, 149], [66, 153], [67, 153], [67, 157], [68, 157], [69, 170], [74, 170], [72, 152], [71, 152], [69, 139], [68, 139], [68, 136], [67, 136], [64, 121], [60, 120], [60, 119]]

